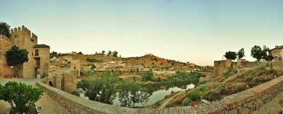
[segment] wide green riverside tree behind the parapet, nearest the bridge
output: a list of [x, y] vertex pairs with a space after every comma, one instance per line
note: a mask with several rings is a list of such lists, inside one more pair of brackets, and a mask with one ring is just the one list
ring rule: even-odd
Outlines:
[[100, 75], [89, 76], [77, 83], [78, 88], [82, 88], [89, 100], [105, 104], [113, 104], [116, 96], [116, 84], [118, 83], [119, 73], [106, 71]]

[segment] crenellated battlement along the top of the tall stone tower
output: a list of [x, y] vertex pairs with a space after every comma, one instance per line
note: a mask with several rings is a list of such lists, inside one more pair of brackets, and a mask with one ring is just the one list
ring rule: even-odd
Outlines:
[[14, 29], [11, 29], [10, 34], [11, 35], [26, 34], [32, 40], [37, 40], [37, 36], [34, 33], [31, 33], [30, 30], [28, 30], [26, 27], [24, 27], [24, 25], [22, 26], [22, 28], [20, 28], [20, 27], [16, 28], [15, 27]]

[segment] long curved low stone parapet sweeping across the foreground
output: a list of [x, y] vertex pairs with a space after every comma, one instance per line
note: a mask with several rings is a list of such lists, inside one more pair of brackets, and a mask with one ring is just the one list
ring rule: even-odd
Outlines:
[[264, 84], [201, 105], [167, 109], [132, 109], [86, 100], [41, 82], [44, 91], [72, 114], [237, 114], [259, 110], [283, 91], [283, 76]]

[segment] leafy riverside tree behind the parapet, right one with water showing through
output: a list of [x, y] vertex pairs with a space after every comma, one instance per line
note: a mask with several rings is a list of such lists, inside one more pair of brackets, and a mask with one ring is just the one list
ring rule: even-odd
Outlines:
[[144, 105], [149, 100], [148, 90], [141, 88], [139, 83], [124, 82], [120, 87], [118, 96], [121, 106], [130, 107], [133, 104], [133, 108], [135, 108], [136, 103]]

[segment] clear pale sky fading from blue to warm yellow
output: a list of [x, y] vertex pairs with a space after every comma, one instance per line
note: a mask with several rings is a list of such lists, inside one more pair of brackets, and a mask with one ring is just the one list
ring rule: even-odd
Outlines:
[[[283, 45], [283, 0], [1, 0], [0, 21], [24, 25], [50, 52], [152, 53], [213, 65], [225, 52]], [[225, 59], [225, 57], [223, 57]]]

